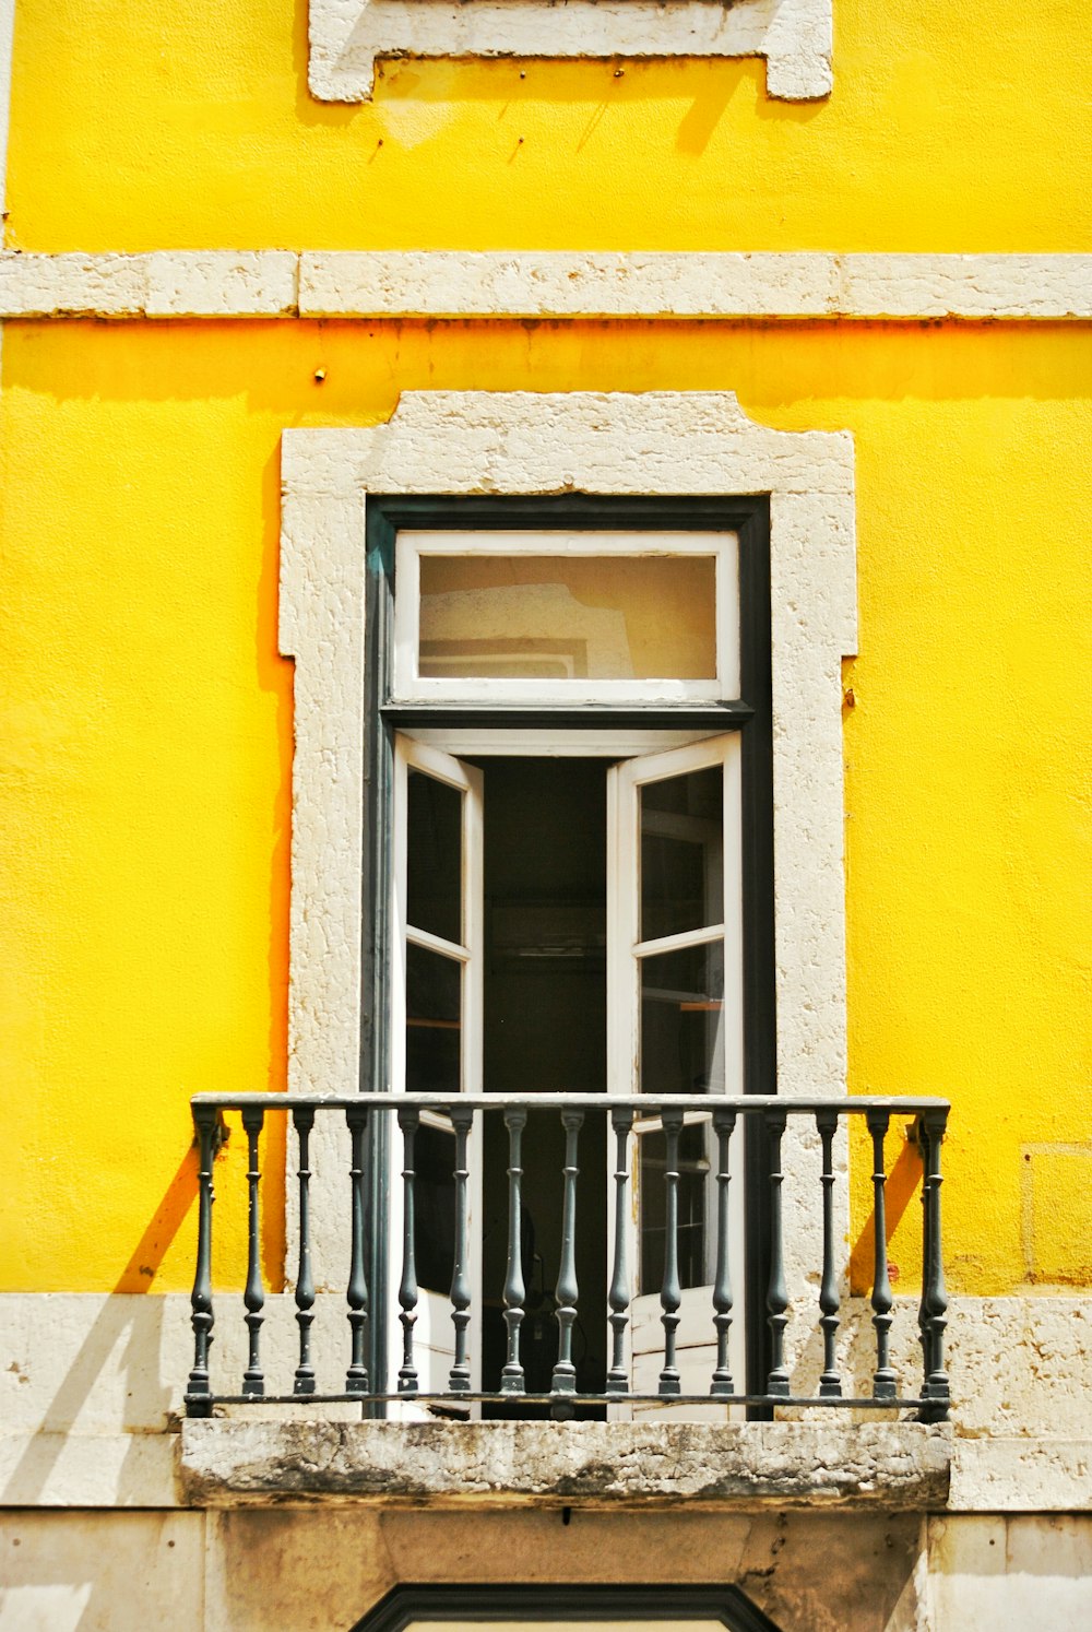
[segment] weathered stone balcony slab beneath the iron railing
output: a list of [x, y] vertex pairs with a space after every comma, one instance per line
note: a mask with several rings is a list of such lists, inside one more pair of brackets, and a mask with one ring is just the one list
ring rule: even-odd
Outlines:
[[690, 1508], [948, 1503], [948, 1423], [189, 1420], [183, 1498]]

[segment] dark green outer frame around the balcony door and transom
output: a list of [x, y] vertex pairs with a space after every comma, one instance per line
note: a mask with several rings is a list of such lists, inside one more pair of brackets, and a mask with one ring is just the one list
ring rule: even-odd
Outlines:
[[[400, 527], [429, 530], [534, 530], [588, 529], [627, 532], [723, 530], [739, 539], [739, 698], [695, 707], [632, 705], [612, 710], [586, 707], [568, 713], [563, 707], [503, 710], [511, 726], [584, 725], [602, 730], [609, 723], [656, 728], [700, 726], [739, 730], [743, 778], [743, 1015], [744, 1092], [777, 1092], [777, 1018], [774, 965], [774, 734], [772, 734], [772, 627], [770, 627], [770, 503], [769, 494], [723, 496], [599, 496], [584, 493], [547, 496], [464, 496], [464, 494], [369, 494], [367, 607], [366, 607], [366, 813], [362, 855], [362, 922], [366, 942], [361, 956], [361, 1087], [387, 1080], [392, 867], [392, 787], [393, 733], [398, 726], [499, 725], [496, 708], [455, 708], [451, 705], [392, 705], [395, 539]], [[743, 703], [743, 707], [739, 707]], [[379, 1118], [385, 1129], [387, 1118]], [[382, 1195], [388, 1172], [385, 1134], [379, 1133], [371, 1152], [369, 1188]], [[762, 1392], [761, 1379], [770, 1366], [769, 1328], [762, 1319], [769, 1281], [769, 1162], [764, 1138], [748, 1129], [744, 1151], [746, 1209], [746, 1309], [748, 1309], [748, 1392]], [[382, 1208], [380, 1227], [372, 1232], [371, 1322], [372, 1376], [385, 1376], [385, 1345], [379, 1333], [387, 1320], [387, 1239]], [[752, 1418], [769, 1417], [751, 1407]]]

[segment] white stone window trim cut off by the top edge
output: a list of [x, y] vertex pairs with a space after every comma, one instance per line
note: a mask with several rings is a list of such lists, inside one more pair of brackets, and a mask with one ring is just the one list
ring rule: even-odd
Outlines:
[[766, 57], [766, 90], [831, 95], [831, 0], [310, 0], [309, 85], [371, 101], [377, 57]]

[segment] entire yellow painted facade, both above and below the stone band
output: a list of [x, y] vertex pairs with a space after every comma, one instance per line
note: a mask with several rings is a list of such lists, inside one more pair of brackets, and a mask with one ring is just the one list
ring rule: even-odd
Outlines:
[[[304, 0], [20, 0], [7, 245], [1087, 250], [1085, 28], [1066, 0], [839, 0], [829, 103], [770, 101], [757, 62], [408, 62], [348, 108], [307, 93]], [[189, 1095], [284, 1085], [279, 436], [421, 387], [725, 388], [852, 431], [850, 1087], [952, 1097], [953, 1293], [1089, 1284], [1087, 325], [28, 322], [0, 421], [5, 1289], [188, 1288]], [[225, 1162], [238, 1284], [238, 1136]]]

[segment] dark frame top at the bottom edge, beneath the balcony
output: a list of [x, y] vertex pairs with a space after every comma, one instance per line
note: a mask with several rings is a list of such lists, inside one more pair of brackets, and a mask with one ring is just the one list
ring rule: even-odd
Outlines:
[[726, 1632], [779, 1632], [774, 1621], [738, 1586], [526, 1586], [460, 1585], [392, 1588], [353, 1632], [406, 1632], [415, 1621], [646, 1621], [664, 1629], [686, 1621], [715, 1621]]

